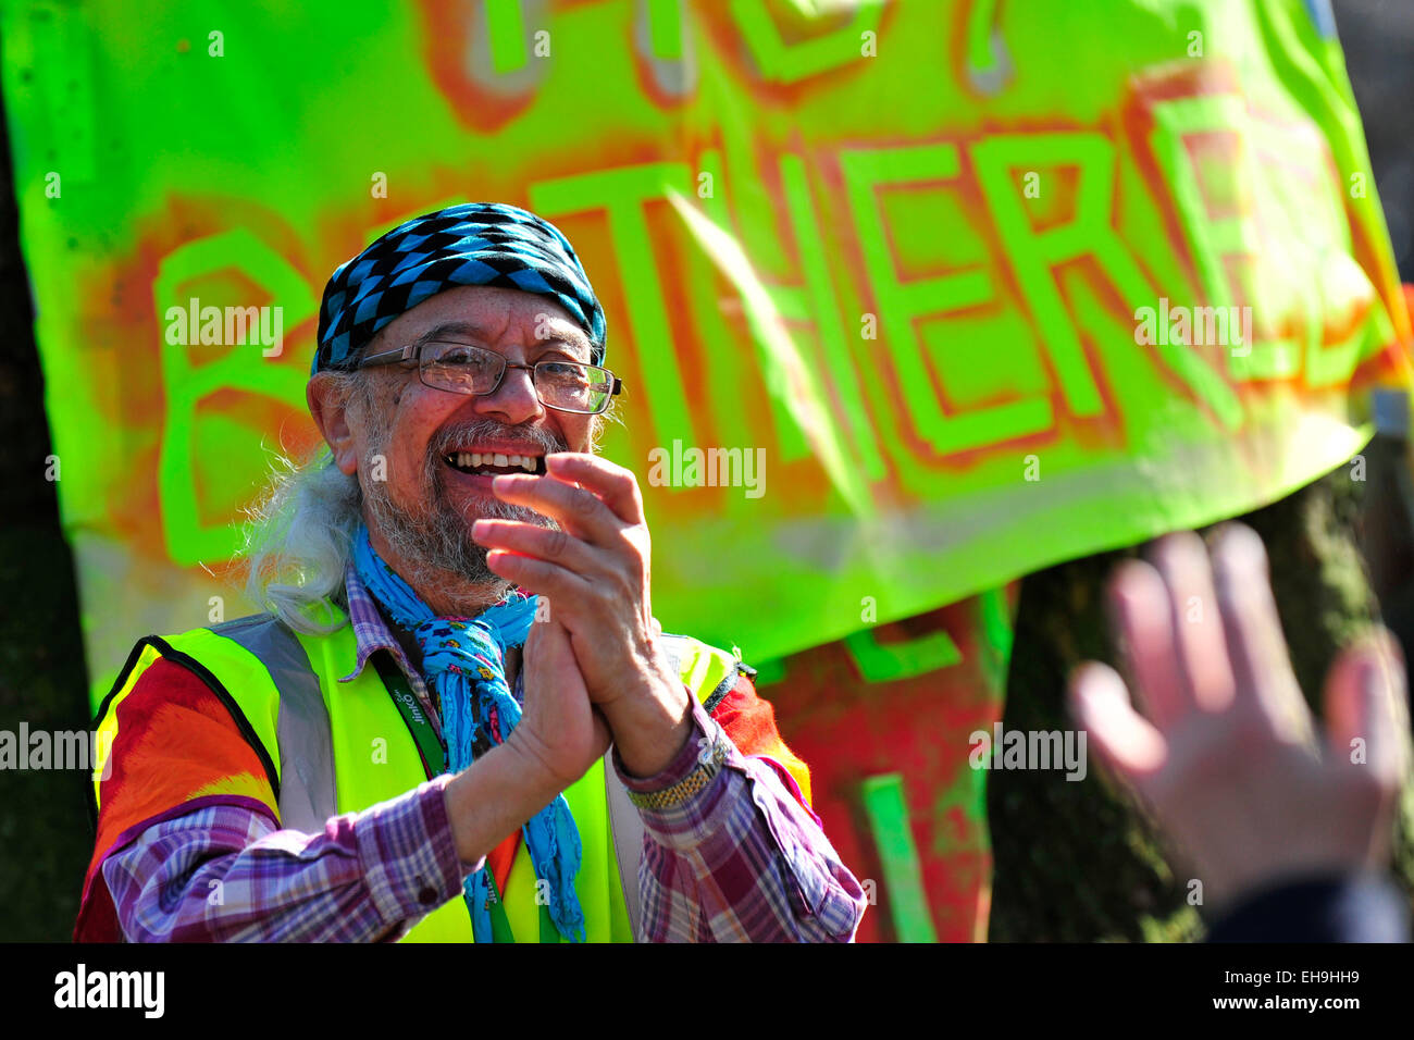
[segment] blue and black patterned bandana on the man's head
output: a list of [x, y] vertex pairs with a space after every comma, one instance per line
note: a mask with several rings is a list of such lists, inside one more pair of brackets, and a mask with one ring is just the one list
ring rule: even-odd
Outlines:
[[604, 308], [570, 239], [505, 202], [464, 202], [406, 221], [339, 265], [320, 304], [310, 375], [342, 368], [383, 325], [452, 286], [499, 286], [549, 296], [604, 361]]

